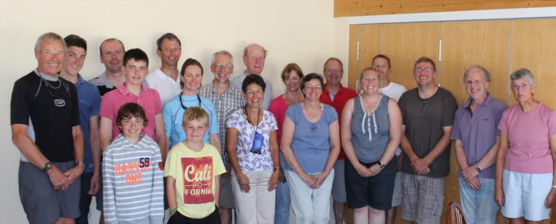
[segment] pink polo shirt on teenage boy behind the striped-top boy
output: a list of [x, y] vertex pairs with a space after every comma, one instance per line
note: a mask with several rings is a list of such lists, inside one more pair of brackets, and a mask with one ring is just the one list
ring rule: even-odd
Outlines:
[[155, 89], [149, 89], [143, 85], [141, 85], [141, 94], [139, 96], [131, 94], [124, 85], [122, 85], [104, 94], [102, 97], [100, 103], [100, 117], [106, 117], [112, 120], [111, 140], [114, 140], [114, 138], [120, 134], [120, 129], [117, 128], [116, 125], [117, 111], [120, 110], [122, 105], [131, 102], [137, 103], [145, 110], [145, 115], [149, 122], [147, 123], [147, 127], [143, 128], [142, 133], [156, 141], [154, 116], [162, 113], [161, 96], [158, 95]]

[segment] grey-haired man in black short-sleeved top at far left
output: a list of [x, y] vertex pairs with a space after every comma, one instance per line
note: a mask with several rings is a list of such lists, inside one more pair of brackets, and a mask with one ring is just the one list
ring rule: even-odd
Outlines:
[[12, 141], [22, 153], [19, 198], [29, 223], [73, 223], [79, 217], [83, 133], [73, 83], [60, 78], [66, 45], [56, 33], [35, 44], [38, 67], [14, 84]]

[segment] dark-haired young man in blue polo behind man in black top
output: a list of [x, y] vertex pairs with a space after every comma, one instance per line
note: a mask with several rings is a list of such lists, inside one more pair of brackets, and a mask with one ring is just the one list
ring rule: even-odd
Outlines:
[[81, 216], [75, 221], [76, 223], [88, 223], [92, 196], [96, 196], [97, 210], [102, 212], [102, 195], [97, 194], [102, 188], [99, 141], [100, 94], [95, 85], [85, 81], [79, 74], [87, 55], [87, 42], [78, 35], [68, 35], [64, 40], [67, 51], [60, 77], [74, 83], [77, 87], [79, 123], [81, 123], [85, 148], [85, 171], [81, 175], [81, 200], [79, 203]]

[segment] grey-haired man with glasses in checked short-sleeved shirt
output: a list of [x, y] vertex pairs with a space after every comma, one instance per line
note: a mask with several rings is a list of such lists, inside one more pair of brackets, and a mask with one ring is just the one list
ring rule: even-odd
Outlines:
[[235, 207], [234, 193], [231, 191], [230, 166], [226, 153], [226, 120], [235, 110], [245, 105], [240, 89], [230, 85], [230, 75], [234, 72], [234, 57], [229, 51], [213, 53], [211, 71], [214, 74], [212, 83], [199, 89], [199, 95], [211, 100], [218, 117], [218, 132], [222, 147], [222, 162], [226, 173], [220, 175], [220, 221], [231, 223], [231, 209]]

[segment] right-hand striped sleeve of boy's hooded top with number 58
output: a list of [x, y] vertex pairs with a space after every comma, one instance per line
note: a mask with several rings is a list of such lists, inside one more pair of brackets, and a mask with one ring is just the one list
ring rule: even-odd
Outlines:
[[152, 192], [151, 192], [151, 203], [150, 203], [150, 221], [151, 223], [163, 223], [164, 220], [164, 181], [162, 178], [163, 172], [161, 166], [158, 164], [162, 163], [161, 151], [158, 148], [158, 144], [152, 141], [152, 147], [155, 150], [152, 151], [151, 169], [152, 169]]

